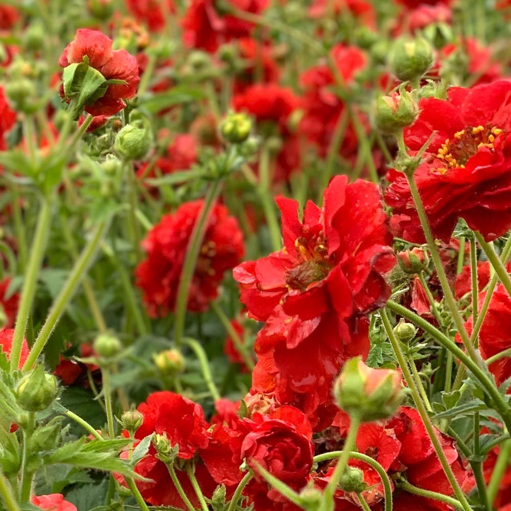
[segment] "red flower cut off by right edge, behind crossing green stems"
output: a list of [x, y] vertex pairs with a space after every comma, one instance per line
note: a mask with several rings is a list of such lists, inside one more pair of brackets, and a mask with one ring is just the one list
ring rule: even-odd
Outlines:
[[[479, 294], [479, 310], [485, 297], [486, 293]], [[511, 338], [507, 335], [508, 326], [511, 326], [511, 298], [504, 286], [499, 284], [493, 292], [479, 331], [479, 351], [484, 360], [511, 348]], [[472, 316], [465, 323], [465, 328], [470, 335], [473, 329]], [[495, 376], [497, 385], [502, 384], [511, 376], [511, 357], [503, 357], [493, 362], [489, 369]]]

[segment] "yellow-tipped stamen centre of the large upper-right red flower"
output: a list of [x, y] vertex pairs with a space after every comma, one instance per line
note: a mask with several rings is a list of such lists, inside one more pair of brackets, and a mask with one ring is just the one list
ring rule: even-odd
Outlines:
[[438, 149], [436, 157], [442, 160], [446, 166], [437, 169], [440, 174], [445, 174], [449, 168], [459, 167], [464, 169], [467, 161], [477, 153], [481, 147], [493, 149], [495, 138], [502, 133], [496, 126], [469, 126], [454, 133], [454, 138], [447, 138]]

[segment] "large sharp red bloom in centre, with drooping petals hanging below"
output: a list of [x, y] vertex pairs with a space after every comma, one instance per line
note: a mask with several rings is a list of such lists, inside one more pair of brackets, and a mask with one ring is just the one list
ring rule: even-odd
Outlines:
[[322, 209], [308, 202], [303, 222], [296, 201], [277, 203], [284, 248], [234, 270], [249, 316], [265, 321], [255, 342], [252, 393], [275, 393], [317, 425], [314, 415], [331, 402], [342, 362], [367, 355], [365, 315], [385, 303], [383, 275], [395, 259], [372, 183], [335, 177]]

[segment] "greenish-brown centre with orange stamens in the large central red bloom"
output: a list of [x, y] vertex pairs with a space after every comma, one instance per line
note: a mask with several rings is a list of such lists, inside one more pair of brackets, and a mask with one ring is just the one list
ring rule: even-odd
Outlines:
[[321, 235], [311, 239], [297, 238], [294, 246], [303, 262], [287, 271], [286, 286], [289, 290], [306, 291], [311, 284], [326, 277], [331, 269], [327, 259], [327, 248]]

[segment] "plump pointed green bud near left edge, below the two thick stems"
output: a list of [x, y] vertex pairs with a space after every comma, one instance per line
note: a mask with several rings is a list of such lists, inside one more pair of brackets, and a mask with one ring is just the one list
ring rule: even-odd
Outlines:
[[19, 406], [28, 412], [47, 409], [57, 397], [57, 378], [44, 373], [42, 365], [38, 365], [25, 376], [16, 389]]

